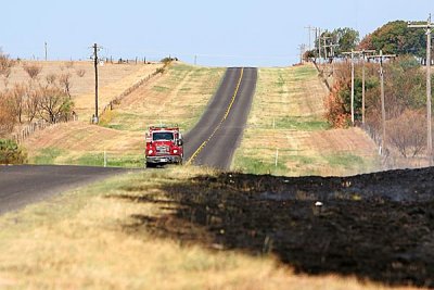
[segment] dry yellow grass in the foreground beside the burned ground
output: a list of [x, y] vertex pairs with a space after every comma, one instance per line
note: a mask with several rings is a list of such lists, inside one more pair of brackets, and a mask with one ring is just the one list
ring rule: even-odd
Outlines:
[[[215, 174], [197, 167], [144, 171], [1, 216], [0, 288], [388, 289], [336, 275], [296, 275], [270, 254], [252, 256], [169, 238], [183, 229], [188, 235], [194, 223], [167, 237], [146, 226], [162, 220], [162, 227], [177, 228], [175, 217], [158, 219], [176, 211], [164, 188]], [[145, 202], [146, 197], [158, 202]], [[206, 229], [196, 230], [206, 241]]]

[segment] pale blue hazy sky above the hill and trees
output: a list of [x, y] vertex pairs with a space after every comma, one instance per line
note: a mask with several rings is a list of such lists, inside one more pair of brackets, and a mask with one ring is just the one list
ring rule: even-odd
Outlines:
[[[159, 60], [202, 65], [285, 66], [297, 62], [305, 26], [353, 27], [361, 36], [394, 20], [426, 20], [433, 0], [2, 0], [0, 47], [12, 56]], [[426, 8], [423, 10], [422, 8]]]

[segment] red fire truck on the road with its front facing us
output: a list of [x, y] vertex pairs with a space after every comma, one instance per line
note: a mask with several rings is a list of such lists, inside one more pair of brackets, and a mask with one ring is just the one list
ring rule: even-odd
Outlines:
[[182, 135], [178, 126], [151, 126], [146, 133], [146, 167], [182, 164]]

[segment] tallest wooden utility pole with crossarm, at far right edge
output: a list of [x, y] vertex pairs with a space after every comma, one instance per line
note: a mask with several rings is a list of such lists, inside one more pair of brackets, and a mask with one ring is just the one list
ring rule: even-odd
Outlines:
[[431, 22], [431, 14], [426, 24], [410, 24], [410, 28], [425, 28], [426, 29], [426, 155], [430, 160], [430, 166], [433, 164], [433, 137], [432, 137], [432, 118], [431, 118], [431, 33], [434, 23]]

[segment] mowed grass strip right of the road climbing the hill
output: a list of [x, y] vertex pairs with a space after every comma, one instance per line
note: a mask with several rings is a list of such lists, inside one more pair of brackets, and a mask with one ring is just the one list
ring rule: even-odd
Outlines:
[[288, 176], [353, 175], [380, 168], [375, 146], [362, 130], [330, 128], [323, 117], [327, 93], [312, 66], [260, 68], [232, 167]]

